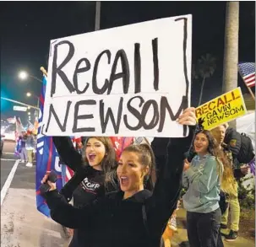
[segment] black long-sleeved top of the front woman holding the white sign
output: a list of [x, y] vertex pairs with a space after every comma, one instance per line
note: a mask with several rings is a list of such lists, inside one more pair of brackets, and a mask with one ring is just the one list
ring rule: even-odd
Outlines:
[[188, 150], [191, 139], [191, 135], [170, 139], [166, 164], [161, 166], [152, 196], [142, 196], [139, 200], [135, 194], [123, 200], [120, 191], [83, 208], [75, 208], [57, 190], [49, 191], [46, 202], [52, 219], [68, 228], [84, 228], [90, 247], [159, 247], [166, 223], [177, 206], [183, 153]]

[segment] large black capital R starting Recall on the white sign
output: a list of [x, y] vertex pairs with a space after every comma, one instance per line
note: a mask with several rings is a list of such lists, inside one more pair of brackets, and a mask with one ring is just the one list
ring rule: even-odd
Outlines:
[[[61, 45], [68, 45], [69, 50], [68, 50], [68, 56], [64, 59], [64, 61], [57, 67], [57, 48], [58, 46]], [[53, 53], [53, 61], [52, 61], [52, 88], [51, 88], [51, 97], [53, 94], [55, 94], [56, 90], [56, 78], [57, 74], [60, 78], [62, 78], [63, 83], [66, 85], [69, 93], [74, 92], [74, 86], [72, 83], [69, 82], [66, 74], [62, 71], [63, 67], [70, 61], [70, 59], [74, 56], [74, 45], [69, 42], [68, 40], [61, 41], [57, 43], [54, 46], [54, 53]]]

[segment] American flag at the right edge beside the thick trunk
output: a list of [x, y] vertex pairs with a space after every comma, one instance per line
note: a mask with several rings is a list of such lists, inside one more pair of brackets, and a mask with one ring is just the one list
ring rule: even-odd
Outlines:
[[238, 67], [244, 83], [246, 83], [248, 88], [253, 88], [255, 86], [255, 63], [242, 62], [238, 64]]

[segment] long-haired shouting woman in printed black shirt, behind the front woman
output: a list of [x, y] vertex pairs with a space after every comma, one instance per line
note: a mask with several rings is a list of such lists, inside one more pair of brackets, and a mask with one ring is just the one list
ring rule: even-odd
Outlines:
[[[72, 193], [74, 207], [84, 205], [105, 196], [106, 192], [117, 191], [115, 179], [117, 162], [112, 141], [108, 137], [88, 137], [84, 141], [84, 155], [78, 153], [68, 137], [53, 137], [57, 152], [64, 164], [77, 172], [84, 166], [90, 166], [90, 174], [85, 175]], [[65, 191], [65, 186], [63, 187]], [[84, 247], [87, 244], [88, 232], [82, 228], [74, 229], [69, 247]]]

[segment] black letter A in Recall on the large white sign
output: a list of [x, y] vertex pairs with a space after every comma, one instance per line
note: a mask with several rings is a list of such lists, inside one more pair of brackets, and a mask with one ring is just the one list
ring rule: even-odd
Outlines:
[[[118, 62], [119, 58], [121, 60], [122, 72], [116, 73], [116, 71], [117, 71], [117, 62]], [[117, 54], [115, 56], [115, 60], [114, 60], [113, 65], [112, 65], [112, 72], [111, 72], [111, 75], [110, 75], [109, 87], [108, 87], [108, 90], [107, 90], [107, 94], [111, 93], [113, 82], [117, 79], [120, 79], [120, 78], [123, 78], [123, 94], [127, 94], [128, 89], [129, 89], [129, 83], [130, 83], [130, 70], [129, 70], [128, 58], [127, 58], [126, 53], [125, 53], [124, 50], [117, 51]]]

